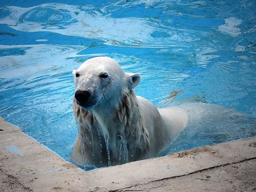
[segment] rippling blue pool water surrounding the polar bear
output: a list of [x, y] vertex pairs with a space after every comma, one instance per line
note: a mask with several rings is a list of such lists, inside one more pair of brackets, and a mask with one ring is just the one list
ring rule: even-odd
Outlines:
[[199, 101], [248, 115], [222, 135], [185, 130], [168, 153], [256, 135], [256, 1], [61, 2], [0, 2], [8, 122], [68, 160], [77, 135], [72, 70], [109, 56], [141, 74], [136, 94], [157, 107]]

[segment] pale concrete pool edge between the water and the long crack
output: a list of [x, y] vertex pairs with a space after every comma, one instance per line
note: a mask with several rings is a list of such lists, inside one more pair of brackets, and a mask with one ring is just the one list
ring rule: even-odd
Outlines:
[[15, 183], [20, 191], [135, 190], [132, 188], [136, 186], [256, 159], [256, 137], [253, 137], [86, 172], [1, 117], [0, 129], [3, 130], [0, 131], [0, 175]]

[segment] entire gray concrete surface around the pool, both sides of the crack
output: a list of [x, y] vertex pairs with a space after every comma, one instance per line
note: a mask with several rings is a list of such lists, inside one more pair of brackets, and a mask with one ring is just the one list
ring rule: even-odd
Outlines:
[[83, 171], [0, 118], [0, 191], [256, 191], [256, 137]]

